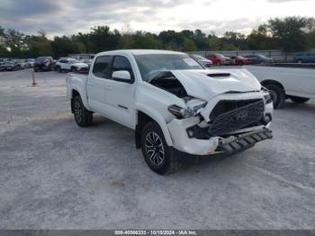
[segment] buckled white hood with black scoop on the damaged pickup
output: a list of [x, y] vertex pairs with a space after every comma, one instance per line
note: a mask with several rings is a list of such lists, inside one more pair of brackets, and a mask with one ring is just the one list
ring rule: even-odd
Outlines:
[[228, 92], [260, 91], [261, 85], [247, 69], [171, 70], [187, 95], [205, 101]]

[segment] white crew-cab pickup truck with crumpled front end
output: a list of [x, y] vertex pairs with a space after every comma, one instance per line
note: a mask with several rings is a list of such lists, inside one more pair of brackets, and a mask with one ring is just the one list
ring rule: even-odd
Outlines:
[[246, 69], [205, 69], [167, 50], [97, 54], [89, 74], [69, 73], [76, 123], [100, 113], [135, 131], [148, 167], [174, 172], [184, 154], [233, 154], [272, 138], [273, 103]]

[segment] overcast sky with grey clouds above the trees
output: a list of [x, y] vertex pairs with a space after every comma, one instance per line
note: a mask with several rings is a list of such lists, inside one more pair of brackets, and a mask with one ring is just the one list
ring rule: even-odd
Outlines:
[[0, 26], [52, 35], [89, 32], [201, 29], [249, 33], [271, 17], [314, 17], [314, 0], [0, 0]]

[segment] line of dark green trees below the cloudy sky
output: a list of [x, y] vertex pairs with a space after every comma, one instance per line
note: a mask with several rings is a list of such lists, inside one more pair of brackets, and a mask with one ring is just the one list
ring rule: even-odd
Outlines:
[[290, 16], [270, 19], [250, 34], [225, 32], [218, 37], [202, 30], [181, 32], [119, 32], [96, 26], [90, 32], [55, 36], [45, 32], [28, 35], [0, 26], [0, 58], [65, 57], [76, 53], [97, 53], [117, 49], [196, 50], [275, 50], [285, 52], [315, 49], [314, 18]]

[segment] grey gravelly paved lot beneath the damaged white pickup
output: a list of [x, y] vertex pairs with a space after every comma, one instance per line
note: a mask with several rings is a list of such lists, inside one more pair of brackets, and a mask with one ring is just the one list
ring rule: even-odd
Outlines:
[[315, 103], [275, 111], [275, 138], [160, 177], [133, 133], [79, 128], [66, 74], [0, 73], [0, 229], [314, 229]]

